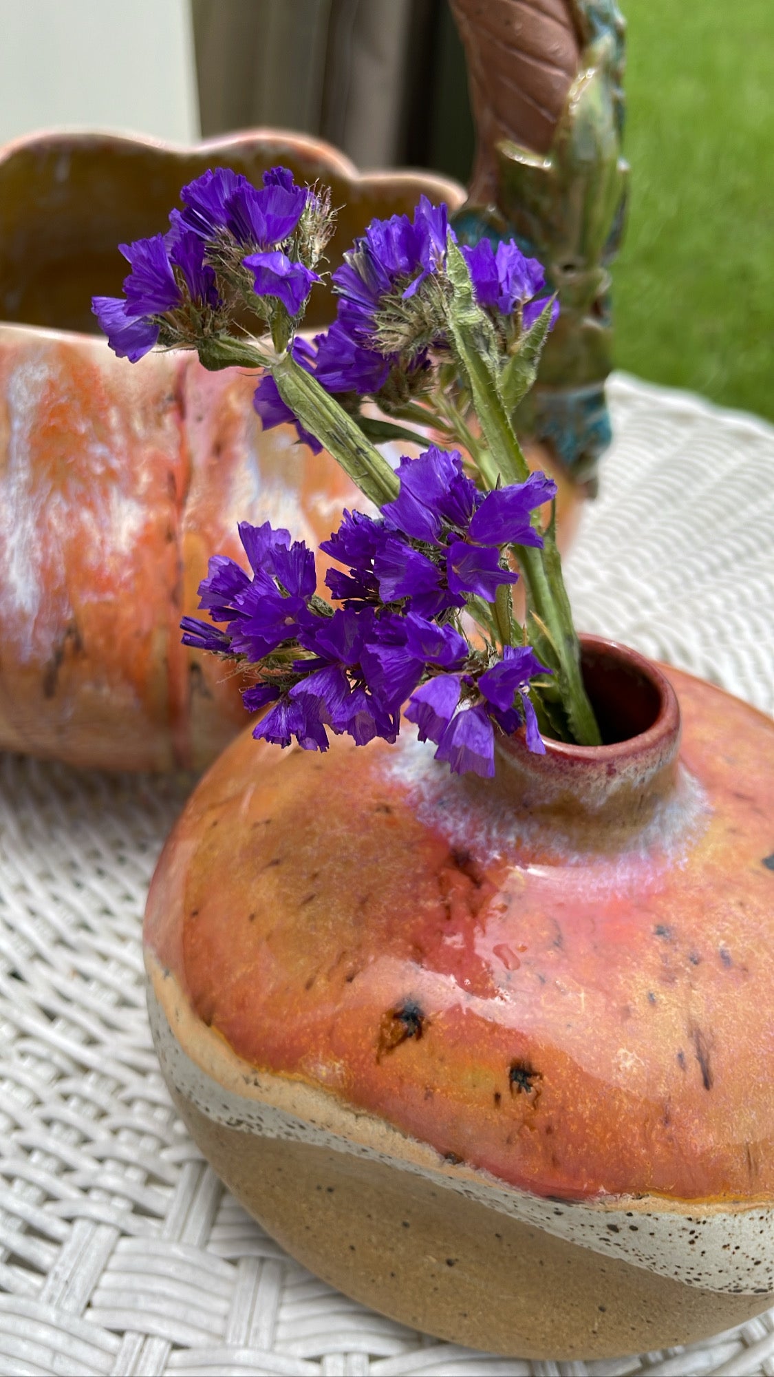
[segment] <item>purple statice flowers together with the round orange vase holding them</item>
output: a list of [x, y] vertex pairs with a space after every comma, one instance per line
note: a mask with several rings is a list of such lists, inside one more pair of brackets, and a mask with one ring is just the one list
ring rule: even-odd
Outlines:
[[262, 369], [264, 425], [366, 509], [322, 580], [242, 525], [249, 573], [215, 554], [183, 621], [259, 716], [149, 898], [180, 1113], [295, 1256], [417, 1327], [588, 1358], [748, 1318], [774, 1292], [773, 728], [578, 640], [516, 439], [540, 263], [423, 200], [354, 244], [308, 340], [325, 189], [213, 169], [182, 202], [95, 299], [110, 343]]

